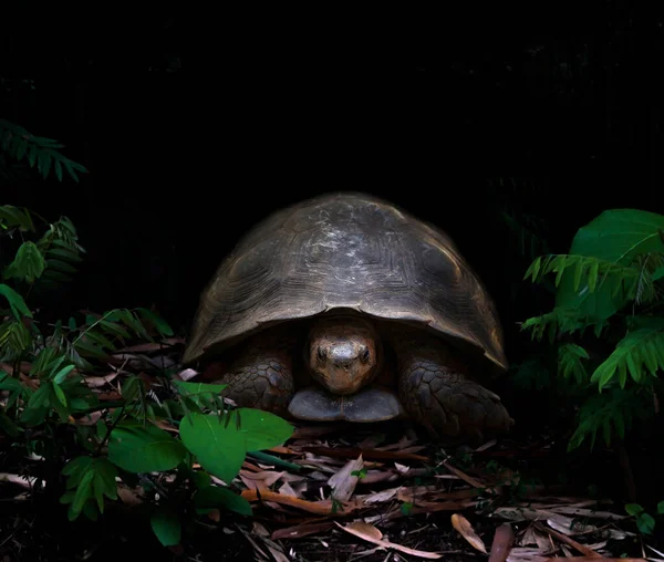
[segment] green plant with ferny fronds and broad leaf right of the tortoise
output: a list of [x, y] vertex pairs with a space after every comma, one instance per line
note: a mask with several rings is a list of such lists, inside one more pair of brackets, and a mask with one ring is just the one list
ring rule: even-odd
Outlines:
[[[602, 212], [581, 228], [569, 254], [540, 256], [525, 279], [553, 277], [552, 310], [521, 330], [558, 347], [558, 374], [585, 392], [569, 448], [601, 434], [625, 437], [655, 414], [664, 370], [664, 217], [636, 209]], [[591, 340], [605, 352], [590, 354]], [[594, 340], [594, 343], [593, 343]]]

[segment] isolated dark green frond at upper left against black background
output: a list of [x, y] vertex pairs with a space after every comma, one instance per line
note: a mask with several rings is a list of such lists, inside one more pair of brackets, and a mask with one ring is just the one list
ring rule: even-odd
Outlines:
[[87, 169], [65, 157], [59, 148], [64, 148], [64, 145], [58, 140], [35, 136], [20, 125], [0, 119], [0, 149], [4, 154], [19, 163], [25, 158], [44, 179], [54, 171], [58, 180], [62, 181], [63, 170], [66, 170], [74, 181], [79, 181], [77, 173], [85, 174]]

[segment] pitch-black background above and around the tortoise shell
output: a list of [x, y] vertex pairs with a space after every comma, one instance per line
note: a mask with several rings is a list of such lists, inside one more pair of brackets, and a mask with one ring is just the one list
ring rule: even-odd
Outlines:
[[2, 185], [2, 204], [79, 228], [89, 257], [54, 308], [154, 304], [186, 330], [253, 222], [370, 191], [453, 236], [513, 345], [548, 304], [520, 282], [530, 257], [502, 212], [564, 252], [606, 208], [663, 210], [664, 20], [548, 6], [4, 22], [0, 116], [90, 174]]

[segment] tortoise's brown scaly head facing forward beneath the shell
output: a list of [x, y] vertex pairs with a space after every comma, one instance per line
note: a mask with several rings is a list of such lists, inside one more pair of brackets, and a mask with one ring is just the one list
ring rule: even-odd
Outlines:
[[356, 393], [377, 373], [381, 345], [373, 326], [352, 315], [313, 323], [305, 352], [312, 377], [338, 395]]

